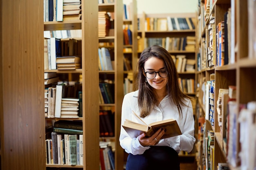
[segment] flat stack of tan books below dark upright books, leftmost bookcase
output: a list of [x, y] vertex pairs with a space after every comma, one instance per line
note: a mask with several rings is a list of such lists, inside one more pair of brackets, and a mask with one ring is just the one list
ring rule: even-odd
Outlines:
[[82, 68], [81, 56], [56, 57], [56, 63], [58, 70], [75, 70], [77, 68]]

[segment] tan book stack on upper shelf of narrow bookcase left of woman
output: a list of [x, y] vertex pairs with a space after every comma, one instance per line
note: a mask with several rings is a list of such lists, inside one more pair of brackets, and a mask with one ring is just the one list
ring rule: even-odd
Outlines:
[[110, 16], [106, 11], [99, 11], [98, 12], [98, 27], [99, 37], [106, 37], [108, 36], [109, 28], [110, 28]]

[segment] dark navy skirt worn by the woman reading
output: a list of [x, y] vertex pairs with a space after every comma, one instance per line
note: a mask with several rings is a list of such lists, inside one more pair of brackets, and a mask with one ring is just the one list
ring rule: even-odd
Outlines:
[[126, 170], [180, 170], [179, 155], [168, 146], [150, 146], [142, 155], [129, 154]]

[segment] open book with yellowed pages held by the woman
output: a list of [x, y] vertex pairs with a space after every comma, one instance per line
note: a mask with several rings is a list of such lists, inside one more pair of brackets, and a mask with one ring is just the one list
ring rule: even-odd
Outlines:
[[166, 129], [166, 132], [161, 137], [161, 139], [182, 134], [180, 131], [180, 127], [177, 124], [177, 121], [174, 119], [162, 120], [159, 122], [146, 124], [143, 120], [141, 120], [141, 118], [139, 118], [139, 116], [136, 113], [134, 113], [134, 111], [132, 111], [132, 113], [144, 124], [132, 122], [131, 120], [127, 120], [127, 119], [125, 120], [122, 126], [131, 138], [137, 137], [142, 133], [146, 133], [146, 136], [150, 137], [158, 129], [161, 129], [161, 128]]

